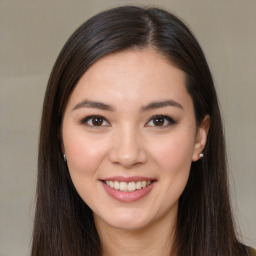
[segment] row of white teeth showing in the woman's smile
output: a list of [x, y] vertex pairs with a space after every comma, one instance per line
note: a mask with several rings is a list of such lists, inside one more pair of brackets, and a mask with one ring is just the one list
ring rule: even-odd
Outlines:
[[146, 186], [150, 185], [152, 183], [152, 181], [145, 181], [145, 180], [142, 180], [142, 181], [132, 181], [132, 182], [124, 182], [124, 181], [105, 181], [105, 184], [111, 188], [114, 188], [115, 190], [120, 190], [120, 191], [123, 191], [123, 192], [133, 192], [135, 190], [138, 190], [138, 189], [142, 189], [142, 188], [145, 188]]

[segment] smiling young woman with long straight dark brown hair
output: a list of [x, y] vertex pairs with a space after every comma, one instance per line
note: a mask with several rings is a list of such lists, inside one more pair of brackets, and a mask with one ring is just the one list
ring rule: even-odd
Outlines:
[[119, 7], [75, 31], [43, 107], [32, 255], [253, 255], [217, 96], [189, 29]]

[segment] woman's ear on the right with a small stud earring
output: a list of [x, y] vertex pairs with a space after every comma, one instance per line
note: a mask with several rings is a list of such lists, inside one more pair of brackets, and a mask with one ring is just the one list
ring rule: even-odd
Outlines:
[[207, 142], [207, 135], [210, 127], [210, 116], [206, 115], [197, 128], [197, 134], [195, 138], [194, 152], [192, 156], [192, 161], [195, 162], [200, 159], [199, 154], [202, 153], [205, 144]]

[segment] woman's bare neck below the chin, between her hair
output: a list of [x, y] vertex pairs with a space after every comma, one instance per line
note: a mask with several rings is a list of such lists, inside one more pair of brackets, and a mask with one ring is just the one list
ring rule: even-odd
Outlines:
[[169, 221], [157, 222], [138, 230], [122, 230], [96, 221], [96, 228], [102, 244], [102, 256], [170, 256], [175, 224]]

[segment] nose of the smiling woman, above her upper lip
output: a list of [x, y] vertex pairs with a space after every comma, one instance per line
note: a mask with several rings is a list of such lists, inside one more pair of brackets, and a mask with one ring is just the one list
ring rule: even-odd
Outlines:
[[109, 160], [124, 168], [131, 168], [147, 161], [147, 151], [143, 140], [135, 129], [126, 128], [115, 134], [109, 152]]

